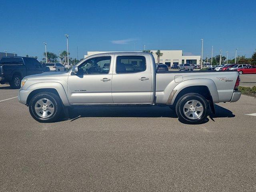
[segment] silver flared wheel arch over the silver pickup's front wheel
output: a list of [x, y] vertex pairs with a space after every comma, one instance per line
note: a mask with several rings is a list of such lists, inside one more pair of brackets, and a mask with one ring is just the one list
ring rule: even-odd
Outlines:
[[55, 89], [58, 92], [64, 106], [70, 106], [68, 102], [67, 94], [62, 84], [58, 82], [39, 82], [39, 83], [32, 84], [27, 88], [27, 90], [37, 90], [37, 89]]

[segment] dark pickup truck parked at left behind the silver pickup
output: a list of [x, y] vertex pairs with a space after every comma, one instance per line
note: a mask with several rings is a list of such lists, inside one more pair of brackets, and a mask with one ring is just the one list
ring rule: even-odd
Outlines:
[[14, 89], [20, 88], [22, 78], [28, 75], [50, 71], [35, 58], [2, 57], [0, 60], [0, 84], [10, 84]]

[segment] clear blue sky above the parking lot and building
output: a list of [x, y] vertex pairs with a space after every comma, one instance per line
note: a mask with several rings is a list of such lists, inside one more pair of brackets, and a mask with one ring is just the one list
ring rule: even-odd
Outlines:
[[183, 50], [204, 58], [222, 49], [250, 57], [256, 49], [256, 2], [226, 1], [1, 1], [0, 52], [38, 56], [66, 50], [83, 58], [87, 51]]

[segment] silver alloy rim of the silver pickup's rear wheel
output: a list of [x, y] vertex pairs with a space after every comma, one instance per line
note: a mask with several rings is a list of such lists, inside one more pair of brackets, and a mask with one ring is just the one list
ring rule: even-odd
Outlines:
[[198, 119], [204, 112], [204, 107], [198, 100], [190, 100], [183, 107], [185, 116], [189, 119]]

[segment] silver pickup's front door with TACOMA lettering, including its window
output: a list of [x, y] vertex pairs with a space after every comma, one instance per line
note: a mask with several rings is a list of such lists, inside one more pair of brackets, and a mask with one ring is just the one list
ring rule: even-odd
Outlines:
[[112, 60], [111, 56], [90, 58], [78, 66], [78, 74], [68, 76], [70, 104], [113, 104]]

